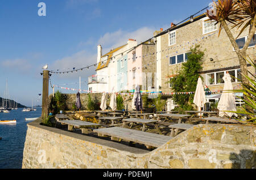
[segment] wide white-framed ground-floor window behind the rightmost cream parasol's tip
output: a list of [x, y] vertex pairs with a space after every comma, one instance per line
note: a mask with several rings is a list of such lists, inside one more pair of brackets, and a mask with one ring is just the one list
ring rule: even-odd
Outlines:
[[206, 74], [206, 83], [207, 85], [216, 85], [216, 84], [224, 84], [223, 77], [224, 75], [229, 72], [231, 76], [231, 82], [232, 83], [238, 83], [241, 79], [241, 70], [229, 70], [229, 71], [221, 71], [221, 72], [213, 72]]

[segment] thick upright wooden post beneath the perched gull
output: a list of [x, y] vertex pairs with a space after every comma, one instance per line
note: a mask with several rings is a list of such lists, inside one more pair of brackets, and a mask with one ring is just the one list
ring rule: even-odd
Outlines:
[[42, 97], [42, 118], [48, 117], [48, 89], [49, 89], [49, 71], [43, 71], [43, 97]]

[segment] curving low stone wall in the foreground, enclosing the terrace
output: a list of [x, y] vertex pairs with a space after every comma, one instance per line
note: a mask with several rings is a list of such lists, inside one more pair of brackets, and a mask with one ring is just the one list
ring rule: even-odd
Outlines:
[[39, 121], [28, 123], [22, 168], [256, 168], [250, 126], [198, 125], [150, 152]]

